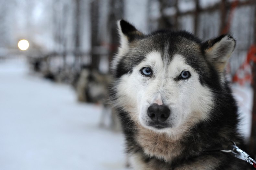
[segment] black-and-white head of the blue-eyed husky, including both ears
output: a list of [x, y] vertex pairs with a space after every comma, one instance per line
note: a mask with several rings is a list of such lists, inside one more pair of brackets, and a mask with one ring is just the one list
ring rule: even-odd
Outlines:
[[203, 44], [186, 32], [143, 35], [123, 20], [119, 32], [121, 46], [112, 63], [117, 107], [156, 132], [207, 121], [235, 40], [223, 35]]

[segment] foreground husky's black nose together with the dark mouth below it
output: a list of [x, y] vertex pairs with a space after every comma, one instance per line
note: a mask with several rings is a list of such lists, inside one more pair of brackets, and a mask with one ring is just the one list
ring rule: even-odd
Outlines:
[[165, 121], [170, 115], [170, 109], [166, 105], [157, 105], [154, 103], [148, 107], [147, 115], [151, 119], [150, 126], [158, 129], [165, 128]]

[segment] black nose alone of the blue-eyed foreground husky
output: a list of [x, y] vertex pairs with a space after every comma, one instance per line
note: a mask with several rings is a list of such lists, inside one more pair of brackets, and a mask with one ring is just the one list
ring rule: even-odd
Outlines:
[[157, 105], [154, 103], [148, 107], [147, 115], [154, 122], [164, 122], [170, 115], [170, 109], [166, 105]]

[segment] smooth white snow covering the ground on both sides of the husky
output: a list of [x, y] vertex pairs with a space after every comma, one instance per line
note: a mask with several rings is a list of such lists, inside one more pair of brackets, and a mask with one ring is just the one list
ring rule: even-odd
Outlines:
[[[252, 91], [234, 85], [241, 131], [250, 133]], [[76, 102], [69, 85], [0, 61], [0, 170], [122, 170], [123, 136], [99, 127], [101, 107]]]

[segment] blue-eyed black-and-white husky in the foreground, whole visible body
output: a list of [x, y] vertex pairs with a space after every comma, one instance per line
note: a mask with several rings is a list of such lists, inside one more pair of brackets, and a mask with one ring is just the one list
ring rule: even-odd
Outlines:
[[111, 100], [138, 170], [240, 170], [227, 149], [243, 145], [238, 107], [225, 76], [236, 41], [201, 42], [185, 31], [145, 35], [118, 22]]

